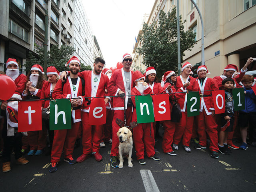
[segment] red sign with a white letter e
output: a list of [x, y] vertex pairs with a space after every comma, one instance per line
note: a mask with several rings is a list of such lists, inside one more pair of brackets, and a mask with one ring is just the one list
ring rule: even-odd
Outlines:
[[90, 125], [103, 125], [106, 123], [106, 105], [104, 98], [92, 98], [89, 112]]

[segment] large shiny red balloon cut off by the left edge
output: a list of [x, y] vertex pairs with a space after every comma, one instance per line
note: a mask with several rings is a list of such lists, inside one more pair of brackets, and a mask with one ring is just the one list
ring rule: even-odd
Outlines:
[[7, 75], [0, 75], [0, 100], [8, 100], [12, 97], [15, 92], [16, 85], [12, 78]]

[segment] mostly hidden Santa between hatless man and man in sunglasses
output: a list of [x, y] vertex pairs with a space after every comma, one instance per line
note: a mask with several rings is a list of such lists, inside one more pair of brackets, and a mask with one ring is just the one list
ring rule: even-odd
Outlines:
[[[108, 68], [104, 68], [102, 73], [108, 76], [110, 79], [112, 76], [112, 70]], [[102, 140], [100, 142], [100, 147], [104, 148], [106, 145], [104, 141], [112, 143], [112, 119], [113, 119], [114, 111], [112, 108], [112, 101], [106, 104], [106, 124], [102, 130]]]

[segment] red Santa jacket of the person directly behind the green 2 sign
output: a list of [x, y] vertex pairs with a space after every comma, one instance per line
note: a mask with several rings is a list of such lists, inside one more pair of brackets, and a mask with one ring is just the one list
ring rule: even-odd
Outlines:
[[[190, 85], [188, 87], [186, 87], [185, 89], [183, 89], [183, 85], [185, 83], [187, 83], [189, 79], [190, 79]], [[177, 90], [180, 89], [183, 92], [192, 91], [195, 81], [196, 81], [195, 78], [193, 78], [191, 76], [188, 76], [187, 79], [186, 79], [186, 82], [184, 82], [184, 80], [182, 79], [182, 76], [180, 75], [180, 76], [176, 77], [176, 88], [177, 88]], [[187, 94], [184, 94], [182, 97], [180, 97], [178, 99], [178, 103], [180, 105], [181, 111], [185, 112], [186, 104], [187, 104]]]

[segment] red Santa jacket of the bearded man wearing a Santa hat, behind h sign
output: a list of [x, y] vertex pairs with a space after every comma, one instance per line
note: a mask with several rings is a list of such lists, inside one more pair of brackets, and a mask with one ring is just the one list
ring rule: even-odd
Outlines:
[[[62, 89], [62, 81], [58, 80], [54, 91], [52, 93], [52, 97], [54, 99], [61, 99], [61, 98], [78, 98], [78, 97], [84, 97], [82, 95], [83, 87], [81, 79], [78, 77], [76, 82], [76, 90], [73, 90], [73, 85], [70, 76], [67, 77], [67, 80], [63, 86]], [[84, 99], [82, 99], [83, 104]], [[74, 123], [80, 122], [82, 120], [82, 114], [81, 109], [72, 110], [72, 118]]]

